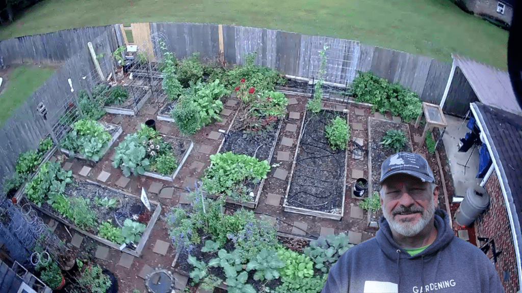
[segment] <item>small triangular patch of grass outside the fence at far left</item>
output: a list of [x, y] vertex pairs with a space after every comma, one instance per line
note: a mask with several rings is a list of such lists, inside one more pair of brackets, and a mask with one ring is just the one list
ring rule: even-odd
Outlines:
[[11, 116], [14, 110], [21, 105], [40, 85], [55, 71], [52, 68], [18, 66], [10, 72], [7, 81], [4, 79], [0, 94], [0, 125]]

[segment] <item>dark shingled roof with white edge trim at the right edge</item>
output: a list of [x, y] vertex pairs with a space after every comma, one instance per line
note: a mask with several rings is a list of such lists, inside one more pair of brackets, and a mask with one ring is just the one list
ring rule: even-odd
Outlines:
[[513, 232], [522, 254], [522, 116], [481, 103], [471, 103], [471, 107], [491, 145], [490, 155], [501, 174], [499, 181], [505, 184], [506, 206], [511, 211]]

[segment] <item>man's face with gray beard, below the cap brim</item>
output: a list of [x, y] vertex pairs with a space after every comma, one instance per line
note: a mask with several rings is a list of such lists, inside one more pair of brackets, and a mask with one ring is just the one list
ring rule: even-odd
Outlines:
[[383, 214], [396, 233], [415, 236], [431, 223], [438, 187], [432, 192], [429, 182], [407, 174], [396, 174], [383, 182], [383, 192]]

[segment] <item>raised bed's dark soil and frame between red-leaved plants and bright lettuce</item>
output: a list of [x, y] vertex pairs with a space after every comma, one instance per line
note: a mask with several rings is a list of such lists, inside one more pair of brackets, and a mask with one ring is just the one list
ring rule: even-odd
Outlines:
[[[238, 113], [241, 112], [242, 111], [240, 109]], [[240, 130], [238, 124], [234, 124], [236, 118], [237, 114], [232, 120], [227, 134], [221, 141], [221, 145], [219, 146], [217, 153], [232, 152], [235, 154], [245, 154], [256, 157], [259, 161], [265, 160], [268, 162], [268, 164], [270, 164], [272, 155], [274, 155], [274, 150], [276, 149], [277, 138], [279, 137], [279, 132], [281, 131], [282, 120], [279, 119], [277, 121], [277, 128], [267, 131], [265, 132], [264, 136], [261, 136], [256, 135], [255, 133], [247, 134], [244, 130]], [[240, 204], [255, 209], [259, 202], [259, 197], [261, 195], [261, 191], [263, 190], [264, 184], [265, 179], [262, 179], [258, 185], [253, 185], [251, 187], [254, 197], [250, 202], [238, 203], [230, 199], [227, 199], [227, 202]]]

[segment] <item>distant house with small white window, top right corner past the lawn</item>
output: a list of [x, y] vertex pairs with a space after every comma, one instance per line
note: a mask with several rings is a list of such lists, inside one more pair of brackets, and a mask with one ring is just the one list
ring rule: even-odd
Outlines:
[[455, 0], [467, 13], [480, 16], [503, 28], [511, 27], [515, 0]]

